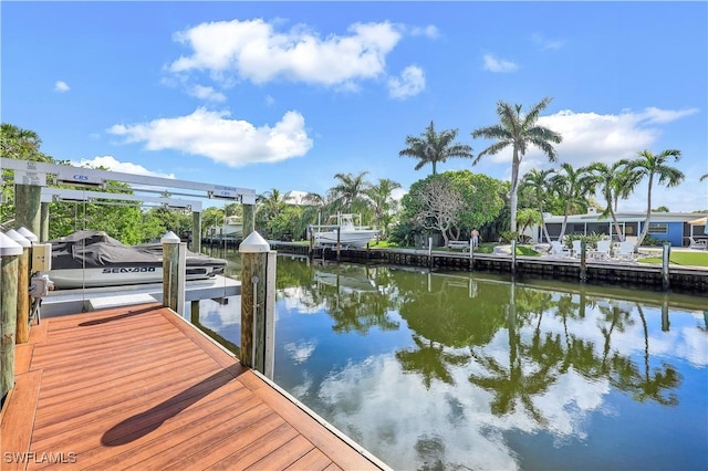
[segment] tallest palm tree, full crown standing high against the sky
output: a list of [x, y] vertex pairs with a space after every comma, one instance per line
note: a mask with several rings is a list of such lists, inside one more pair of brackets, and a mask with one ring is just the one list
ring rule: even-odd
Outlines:
[[499, 102], [497, 105], [497, 114], [501, 122], [497, 125], [481, 127], [472, 132], [473, 138], [482, 137], [486, 139], [497, 139], [497, 143], [479, 153], [477, 158], [472, 161], [472, 165], [477, 165], [487, 154], [494, 155], [509, 146], [512, 147], [513, 154], [511, 159], [510, 190], [511, 231], [517, 230], [519, 166], [521, 165], [523, 156], [527, 154], [527, 148], [532, 144], [543, 150], [550, 161], [555, 161], [558, 157], [555, 149], [551, 144], [559, 144], [563, 140], [563, 137], [560, 134], [546, 127], [537, 125], [539, 114], [549, 105], [549, 103], [551, 103], [551, 98], [543, 98], [541, 102], [533, 105], [528, 114], [522, 114], [521, 105], [512, 106], [508, 103]]

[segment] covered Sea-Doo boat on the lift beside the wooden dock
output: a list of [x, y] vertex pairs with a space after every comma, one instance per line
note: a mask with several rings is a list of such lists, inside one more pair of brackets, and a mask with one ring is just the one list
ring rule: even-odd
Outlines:
[[[163, 247], [159, 243], [125, 245], [104, 231], [81, 230], [50, 240], [56, 289], [118, 286], [163, 282]], [[222, 274], [226, 260], [187, 251], [187, 281]]]

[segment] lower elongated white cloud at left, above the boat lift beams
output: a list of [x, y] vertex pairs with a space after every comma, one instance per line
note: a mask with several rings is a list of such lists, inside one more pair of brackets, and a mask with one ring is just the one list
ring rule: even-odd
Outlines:
[[272, 127], [256, 127], [228, 116], [226, 111], [198, 108], [188, 116], [114, 125], [108, 132], [124, 136], [127, 143], [145, 143], [148, 150], [179, 150], [230, 167], [287, 160], [312, 148], [304, 118], [298, 112], [285, 113]]

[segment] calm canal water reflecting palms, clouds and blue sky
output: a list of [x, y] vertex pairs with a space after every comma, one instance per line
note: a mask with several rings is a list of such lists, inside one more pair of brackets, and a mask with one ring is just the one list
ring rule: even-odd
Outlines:
[[708, 467], [708, 297], [279, 257], [275, 325], [275, 383], [396, 470]]

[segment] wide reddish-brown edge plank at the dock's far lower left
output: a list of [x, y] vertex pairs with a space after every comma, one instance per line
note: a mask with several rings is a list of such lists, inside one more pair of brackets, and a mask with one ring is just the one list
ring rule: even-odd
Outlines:
[[4, 405], [2, 423], [0, 425], [0, 450], [3, 456], [3, 470], [23, 470], [23, 460], [11, 459], [4, 453], [23, 452], [29, 450], [32, 436], [32, 423], [34, 422], [34, 410], [40, 394], [42, 383], [42, 371], [28, 371], [15, 377], [14, 388]]

